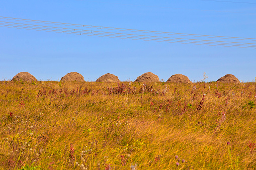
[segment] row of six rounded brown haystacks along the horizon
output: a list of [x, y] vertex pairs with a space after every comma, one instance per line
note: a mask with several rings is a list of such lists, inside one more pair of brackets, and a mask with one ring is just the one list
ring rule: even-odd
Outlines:
[[[12, 81], [37, 81], [37, 79], [28, 72], [20, 72]], [[60, 81], [77, 81], [84, 82], [83, 76], [77, 72], [67, 73], [65, 76], [61, 77]], [[232, 74], [227, 74], [217, 81], [224, 83], [240, 83], [240, 81]], [[120, 82], [117, 76], [114, 74], [107, 73], [96, 80], [96, 82]], [[141, 76], [137, 77], [135, 82], [160, 82], [159, 77], [151, 72], [144, 73]], [[172, 75], [167, 82], [173, 83], [191, 83], [189, 78], [182, 74]]]

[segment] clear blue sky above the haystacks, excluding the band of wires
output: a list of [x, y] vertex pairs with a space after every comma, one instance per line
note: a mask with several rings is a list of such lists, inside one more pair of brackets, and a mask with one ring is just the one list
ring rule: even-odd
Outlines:
[[[232, 1], [256, 3], [255, 0]], [[256, 4], [201, 0], [10, 0], [0, 1], [0, 16], [256, 38]], [[115, 74], [121, 81], [134, 81], [145, 72], [152, 72], [164, 81], [178, 73], [200, 81], [206, 72], [209, 77], [207, 81], [216, 81], [226, 74], [233, 74], [240, 81], [251, 82], [256, 77], [256, 49], [147, 42], [0, 27], [0, 80], [12, 79], [22, 71], [31, 73], [38, 80], [58, 80], [75, 71], [83, 75], [86, 81], [95, 81], [106, 73]]]

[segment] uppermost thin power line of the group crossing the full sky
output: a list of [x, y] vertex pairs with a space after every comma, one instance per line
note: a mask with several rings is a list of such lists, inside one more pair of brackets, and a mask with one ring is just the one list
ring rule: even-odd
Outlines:
[[49, 22], [49, 21], [40, 21], [40, 20], [29, 20], [29, 19], [19, 19], [19, 18], [11, 18], [11, 17], [1, 17], [0, 19], [5, 20], [17, 20], [24, 22], [34, 22], [34, 23], [44, 23], [44, 24], [54, 24], [54, 25], [66, 25], [72, 27], [87, 27], [94, 29], [107, 29], [107, 30], [116, 30], [116, 31], [129, 31], [129, 32], [143, 32], [143, 33], [154, 33], [154, 34], [171, 34], [171, 35], [182, 35], [182, 36], [202, 36], [206, 38], [228, 38], [228, 39], [244, 39], [255, 41], [256, 38], [244, 38], [244, 37], [228, 37], [228, 36], [212, 36], [212, 35], [201, 35], [201, 34], [187, 34], [187, 33], [174, 33], [174, 32], [160, 32], [160, 31], [149, 31], [149, 30], [136, 30], [136, 29], [124, 29], [124, 28], [115, 28], [115, 27], [103, 27], [103, 26], [90, 26], [90, 25], [81, 25], [81, 24], [68, 24], [68, 23], [59, 23], [59, 22]]

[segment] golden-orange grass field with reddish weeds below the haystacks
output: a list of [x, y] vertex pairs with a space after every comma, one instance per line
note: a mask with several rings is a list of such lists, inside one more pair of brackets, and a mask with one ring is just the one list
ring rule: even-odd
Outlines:
[[256, 169], [255, 83], [0, 82], [0, 169]]

